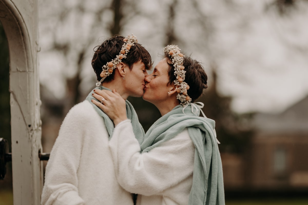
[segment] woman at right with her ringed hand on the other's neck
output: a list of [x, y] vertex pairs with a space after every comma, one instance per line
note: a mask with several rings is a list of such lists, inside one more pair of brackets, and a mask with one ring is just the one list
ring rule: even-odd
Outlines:
[[202, 103], [193, 103], [207, 88], [206, 81], [199, 62], [180, 53], [178, 46], [165, 47], [164, 58], [145, 77], [143, 94], [162, 117], [141, 144], [119, 93], [95, 90], [98, 101], [93, 104], [115, 124], [109, 148], [117, 180], [138, 194], [137, 205], [225, 204], [215, 122], [205, 117]]

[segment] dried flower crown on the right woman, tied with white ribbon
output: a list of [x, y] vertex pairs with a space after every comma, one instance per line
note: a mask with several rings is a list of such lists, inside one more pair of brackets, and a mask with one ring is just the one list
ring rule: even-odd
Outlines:
[[177, 96], [176, 99], [180, 101], [181, 106], [191, 102], [191, 98], [187, 95], [187, 90], [189, 85], [187, 85], [185, 80], [185, 67], [183, 66], [184, 55], [180, 53], [181, 49], [177, 45], [167, 45], [164, 47], [164, 53], [168, 53], [171, 57], [171, 61], [174, 67], [174, 75], [176, 80], [174, 80], [174, 85], [176, 85]]

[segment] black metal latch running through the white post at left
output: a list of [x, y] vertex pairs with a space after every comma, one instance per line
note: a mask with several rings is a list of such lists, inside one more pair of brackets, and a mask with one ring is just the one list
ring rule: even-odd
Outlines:
[[[41, 153], [40, 160], [49, 160], [49, 153]], [[0, 179], [4, 179], [6, 174], [6, 163], [12, 161], [12, 153], [9, 153], [9, 143], [6, 139], [0, 138]]]

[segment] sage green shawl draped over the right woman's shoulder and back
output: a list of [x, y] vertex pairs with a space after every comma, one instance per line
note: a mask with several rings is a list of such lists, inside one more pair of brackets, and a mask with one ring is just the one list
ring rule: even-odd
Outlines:
[[215, 121], [199, 117], [199, 114], [200, 109], [195, 104], [190, 103], [186, 108], [176, 106], [149, 128], [140, 148], [142, 152], [149, 152], [188, 128], [196, 147], [188, 204], [222, 205], [225, 204], [225, 194]]

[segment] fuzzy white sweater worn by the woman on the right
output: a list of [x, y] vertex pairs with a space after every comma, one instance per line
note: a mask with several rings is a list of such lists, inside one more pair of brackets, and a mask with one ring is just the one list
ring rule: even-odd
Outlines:
[[187, 128], [161, 146], [140, 154], [130, 120], [125, 120], [115, 127], [109, 147], [118, 182], [138, 194], [137, 205], [188, 204], [195, 147]]

